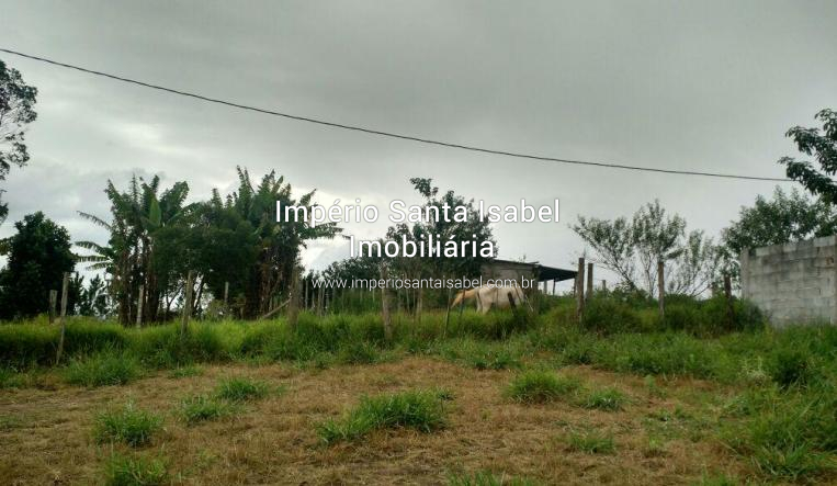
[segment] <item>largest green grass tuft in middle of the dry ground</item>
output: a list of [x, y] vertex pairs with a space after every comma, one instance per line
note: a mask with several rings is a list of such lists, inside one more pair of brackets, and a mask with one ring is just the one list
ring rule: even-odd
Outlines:
[[446, 425], [444, 403], [433, 391], [364, 396], [341, 419], [317, 426], [323, 442], [359, 439], [375, 429], [410, 428], [431, 432]]

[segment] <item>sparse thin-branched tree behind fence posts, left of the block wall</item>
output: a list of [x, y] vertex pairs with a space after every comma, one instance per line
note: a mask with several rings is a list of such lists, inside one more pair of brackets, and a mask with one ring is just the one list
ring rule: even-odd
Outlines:
[[593, 261], [617, 273], [631, 291], [657, 295], [657, 262], [664, 263], [667, 292], [697, 296], [712, 285], [719, 251], [701, 230], [686, 231], [686, 221], [668, 216], [659, 201], [631, 219], [578, 217], [572, 226], [593, 250]]

